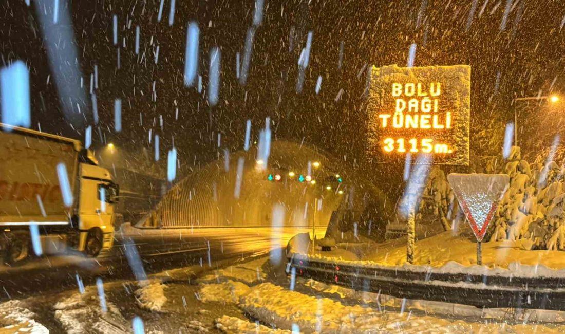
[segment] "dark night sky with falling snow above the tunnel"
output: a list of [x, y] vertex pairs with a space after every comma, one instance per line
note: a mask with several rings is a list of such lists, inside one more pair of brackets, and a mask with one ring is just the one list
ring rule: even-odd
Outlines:
[[[24, 0], [2, 1], [0, 64], [21, 59], [31, 68], [33, 128], [39, 123], [42, 131], [82, 139], [84, 124], [73, 129], [63, 116], [61, 99], [65, 97], [59, 96], [54, 80], [54, 72], [60, 69], [50, 69], [38, 4], [45, 6], [47, 17], [53, 15], [50, 0], [31, 0], [29, 7]], [[565, 94], [565, 2], [560, 0], [266, 0], [262, 22], [253, 28], [246, 85], [236, 78], [236, 53], [243, 56], [247, 30], [253, 27], [254, 1], [176, 0], [172, 26], [171, 0], [164, 0], [160, 22], [159, 5], [160, 0], [59, 2], [71, 14], [77, 65], [84, 77], [86, 99], [81, 111], [88, 125], [94, 125], [90, 75], [98, 66], [95, 93], [100, 122], [93, 131], [94, 145], [104, 142], [101, 133], [106, 141], [135, 153], [152, 147], [148, 141], [152, 129], [162, 137], [162, 161], [174, 140], [181, 170], [217, 158], [224, 148], [242, 149], [246, 120], [253, 122], [252, 133], [257, 137], [267, 116], [273, 138], [304, 142], [350, 166], [372, 168], [364, 154], [367, 69], [406, 66], [413, 43], [417, 44], [415, 66], [471, 65], [472, 155], [499, 153], [502, 142], [494, 147], [488, 142], [501, 136], [504, 125], [514, 118], [513, 98]], [[118, 46], [112, 41], [114, 14], [118, 16], [120, 69], [116, 67]], [[190, 21], [200, 28], [201, 94], [183, 84]], [[141, 29], [139, 55], [134, 53], [137, 25]], [[297, 93], [298, 59], [309, 31], [314, 36], [310, 63], [302, 92]], [[338, 68], [341, 41], [344, 54]], [[221, 81], [219, 103], [211, 107], [206, 88], [213, 46], [221, 50]], [[60, 47], [66, 52], [72, 46]], [[316, 94], [320, 75], [323, 81]], [[67, 84], [79, 87], [79, 83]], [[114, 131], [116, 98], [123, 101], [120, 133]], [[521, 124], [528, 125], [526, 120]]]

